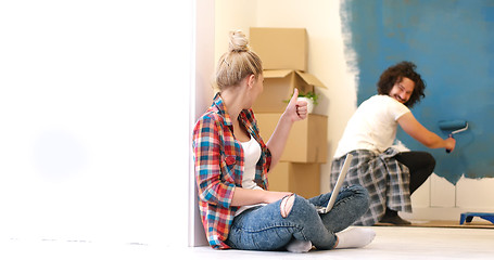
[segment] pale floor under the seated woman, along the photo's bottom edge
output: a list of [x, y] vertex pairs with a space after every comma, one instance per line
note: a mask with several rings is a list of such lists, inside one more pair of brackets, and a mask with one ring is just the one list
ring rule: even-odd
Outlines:
[[372, 226], [375, 240], [357, 249], [286, 251], [214, 250], [210, 247], [0, 239], [0, 259], [494, 259], [494, 230]]

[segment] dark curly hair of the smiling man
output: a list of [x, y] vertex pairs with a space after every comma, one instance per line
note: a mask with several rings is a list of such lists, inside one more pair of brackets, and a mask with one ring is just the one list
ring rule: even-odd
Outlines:
[[426, 90], [426, 81], [422, 80], [420, 74], [415, 69], [417, 66], [411, 62], [401, 62], [387, 68], [379, 78], [377, 83], [378, 93], [389, 95], [393, 86], [401, 82], [403, 78], [409, 78], [415, 82], [414, 92], [410, 99], [405, 103], [408, 108], [411, 108], [416, 103], [420, 102], [422, 98], [426, 98], [423, 91]]

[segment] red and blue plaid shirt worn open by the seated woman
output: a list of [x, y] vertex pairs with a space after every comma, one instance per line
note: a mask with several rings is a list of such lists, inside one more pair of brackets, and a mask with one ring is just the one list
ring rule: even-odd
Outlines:
[[[252, 109], [242, 110], [238, 119], [261, 145], [254, 181], [267, 190], [270, 152], [261, 139]], [[192, 146], [199, 209], [207, 240], [213, 248], [229, 248], [225, 240], [238, 209], [231, 206], [231, 199], [236, 186], [242, 186], [244, 155], [242, 145], [233, 135], [232, 122], [219, 93], [195, 123]]]

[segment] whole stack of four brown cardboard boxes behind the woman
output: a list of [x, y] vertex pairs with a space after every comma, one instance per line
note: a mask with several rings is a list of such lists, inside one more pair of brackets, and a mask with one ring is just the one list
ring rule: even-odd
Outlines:
[[[307, 70], [307, 32], [303, 28], [251, 28], [250, 42], [264, 66], [264, 91], [253, 109], [265, 142], [287, 107], [294, 88], [317, 92], [325, 86]], [[306, 198], [320, 193], [320, 164], [327, 162], [328, 117], [309, 114], [293, 125], [280, 162], [269, 172], [273, 191]]]

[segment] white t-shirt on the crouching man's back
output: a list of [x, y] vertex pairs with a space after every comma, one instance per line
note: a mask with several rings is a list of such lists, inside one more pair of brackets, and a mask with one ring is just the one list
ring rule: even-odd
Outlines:
[[408, 112], [407, 106], [389, 95], [373, 95], [364, 101], [346, 123], [334, 158], [354, 150], [384, 152], [396, 138], [397, 119]]

